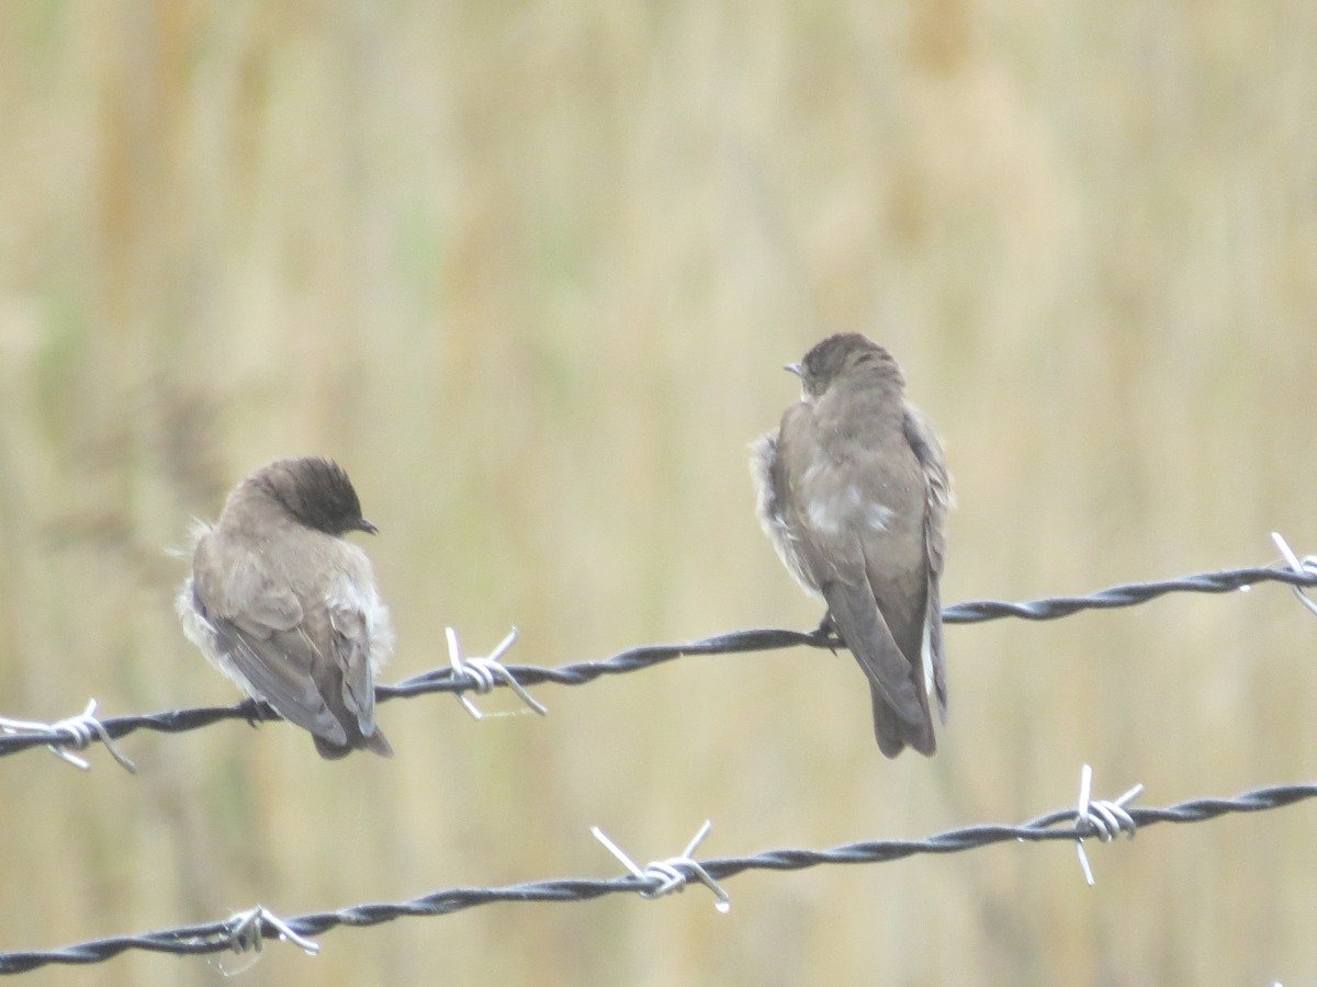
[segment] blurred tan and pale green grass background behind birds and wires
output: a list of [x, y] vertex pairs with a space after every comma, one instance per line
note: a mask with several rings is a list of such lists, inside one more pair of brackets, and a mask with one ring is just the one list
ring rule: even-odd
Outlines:
[[[806, 628], [752, 516], [778, 367], [863, 330], [957, 480], [944, 600], [1317, 545], [1317, 8], [0, 5], [0, 708], [236, 699], [163, 554], [279, 455], [350, 471], [394, 680]], [[844, 654], [390, 703], [392, 762], [281, 725], [0, 763], [0, 949], [640, 859], [1309, 779], [1317, 625], [1279, 588], [948, 630], [932, 762]], [[486, 708], [510, 708], [506, 696]], [[1264, 983], [1317, 976], [1313, 807], [661, 903], [495, 905], [271, 946], [253, 982]], [[36, 983], [213, 983], [133, 954]]]

